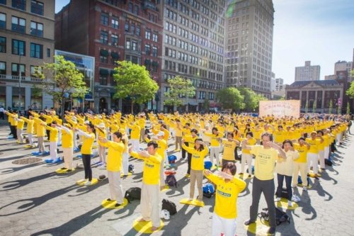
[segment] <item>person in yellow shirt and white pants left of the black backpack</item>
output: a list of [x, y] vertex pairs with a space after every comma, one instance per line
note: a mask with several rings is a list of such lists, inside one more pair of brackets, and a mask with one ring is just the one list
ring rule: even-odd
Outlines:
[[124, 140], [122, 140], [122, 133], [113, 133], [113, 141], [108, 141], [105, 137], [98, 137], [101, 144], [108, 147], [107, 157], [107, 174], [110, 188], [110, 198], [108, 201], [117, 201], [115, 207], [123, 203], [123, 189], [120, 181], [120, 172], [122, 171], [122, 154], [125, 150]]

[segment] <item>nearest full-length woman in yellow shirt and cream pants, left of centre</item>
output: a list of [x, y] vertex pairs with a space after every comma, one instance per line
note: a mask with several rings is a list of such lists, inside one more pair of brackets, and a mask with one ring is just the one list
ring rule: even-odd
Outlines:
[[157, 142], [147, 143], [147, 152], [133, 152], [130, 147], [130, 155], [137, 159], [144, 160], [142, 174], [142, 194], [140, 209], [142, 218], [138, 221], [152, 221], [152, 231], [157, 230], [160, 225], [160, 167], [162, 158], [157, 154]]

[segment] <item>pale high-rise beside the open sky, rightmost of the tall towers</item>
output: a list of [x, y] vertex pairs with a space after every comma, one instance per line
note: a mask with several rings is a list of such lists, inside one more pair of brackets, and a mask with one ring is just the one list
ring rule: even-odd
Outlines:
[[226, 15], [226, 85], [248, 87], [270, 99], [273, 1], [230, 1]]

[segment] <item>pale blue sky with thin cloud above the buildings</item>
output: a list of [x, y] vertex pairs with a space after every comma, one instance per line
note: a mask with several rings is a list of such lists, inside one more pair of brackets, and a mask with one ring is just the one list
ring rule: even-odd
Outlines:
[[[69, 0], [57, 0], [55, 12]], [[295, 67], [309, 60], [321, 66], [320, 79], [338, 60], [353, 60], [354, 0], [273, 0], [273, 72], [291, 84]]]

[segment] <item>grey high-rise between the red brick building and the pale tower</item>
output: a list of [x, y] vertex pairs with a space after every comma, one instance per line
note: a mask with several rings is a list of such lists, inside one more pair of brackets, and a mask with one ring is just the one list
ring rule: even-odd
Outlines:
[[[190, 79], [195, 96], [178, 111], [203, 111], [205, 101], [216, 106], [215, 93], [224, 85], [224, 0], [164, 1], [161, 100], [168, 79]], [[161, 111], [171, 111], [164, 106]]]

